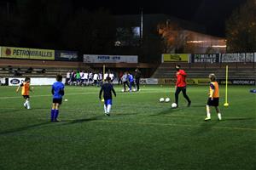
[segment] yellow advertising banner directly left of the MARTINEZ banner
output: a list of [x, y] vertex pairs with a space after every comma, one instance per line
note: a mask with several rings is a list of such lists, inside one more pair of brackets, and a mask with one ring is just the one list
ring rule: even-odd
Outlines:
[[189, 62], [190, 54], [162, 54], [162, 63]]

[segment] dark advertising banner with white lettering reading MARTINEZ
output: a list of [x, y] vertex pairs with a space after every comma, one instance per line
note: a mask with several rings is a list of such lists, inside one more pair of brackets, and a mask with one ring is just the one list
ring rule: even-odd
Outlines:
[[192, 54], [191, 63], [218, 63], [219, 54]]

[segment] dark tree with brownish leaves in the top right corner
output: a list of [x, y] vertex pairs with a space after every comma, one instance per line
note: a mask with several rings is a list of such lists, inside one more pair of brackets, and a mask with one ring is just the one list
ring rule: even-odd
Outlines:
[[226, 21], [227, 51], [256, 51], [256, 1], [247, 0]]

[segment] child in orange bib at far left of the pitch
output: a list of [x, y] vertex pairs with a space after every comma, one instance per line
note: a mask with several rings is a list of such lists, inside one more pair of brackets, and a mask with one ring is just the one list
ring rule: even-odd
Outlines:
[[16, 93], [19, 92], [20, 88], [21, 88], [21, 95], [23, 96], [24, 99], [26, 99], [24, 103], [24, 107], [26, 109], [31, 109], [30, 102], [29, 102], [29, 91], [32, 91], [32, 89], [30, 88], [30, 77], [25, 78], [25, 81], [22, 82], [20, 86], [16, 89]]

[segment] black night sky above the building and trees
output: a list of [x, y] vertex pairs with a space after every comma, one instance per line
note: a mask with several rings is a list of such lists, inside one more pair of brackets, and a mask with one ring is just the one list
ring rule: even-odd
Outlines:
[[112, 14], [170, 14], [207, 27], [207, 33], [224, 37], [224, 21], [246, 0], [92, 0], [75, 1], [84, 8], [108, 8]]

